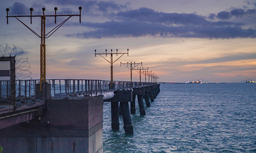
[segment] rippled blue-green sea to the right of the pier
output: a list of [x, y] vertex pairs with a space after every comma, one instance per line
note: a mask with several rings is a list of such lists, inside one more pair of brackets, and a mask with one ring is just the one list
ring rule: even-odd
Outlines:
[[111, 130], [103, 107], [104, 152], [256, 152], [256, 84], [162, 84], [133, 135]]

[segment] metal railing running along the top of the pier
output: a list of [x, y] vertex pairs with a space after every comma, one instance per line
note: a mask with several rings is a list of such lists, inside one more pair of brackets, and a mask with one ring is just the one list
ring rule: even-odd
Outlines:
[[[17, 80], [16, 101], [32, 100], [36, 95], [36, 84], [40, 80]], [[111, 81], [105, 80], [82, 80], [82, 79], [49, 79], [48, 84], [51, 84], [51, 96], [95, 96], [101, 95], [103, 92], [114, 91], [118, 89], [132, 89], [140, 86], [148, 86], [156, 83], [139, 83], [114, 81], [111, 87]], [[10, 101], [11, 90], [10, 81], [0, 81], [0, 103], [3, 100]]]

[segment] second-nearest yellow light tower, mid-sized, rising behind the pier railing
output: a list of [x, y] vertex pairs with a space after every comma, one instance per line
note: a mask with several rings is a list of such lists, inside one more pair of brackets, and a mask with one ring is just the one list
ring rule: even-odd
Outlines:
[[[106, 52], [107, 50], [105, 49], [105, 52]], [[95, 49], [95, 57], [96, 57], [96, 55], [100, 55], [103, 59], [105, 59], [106, 61], [108, 61], [109, 63], [110, 63], [110, 74], [111, 74], [111, 82], [110, 82], [110, 87], [111, 87], [111, 89], [113, 89], [113, 74], [114, 74], [114, 71], [113, 71], [113, 64], [117, 61], [117, 60], [119, 60], [124, 54], [127, 54], [127, 56], [129, 56], [129, 49], [127, 49], [127, 53], [118, 53], [117, 51], [118, 51], [118, 49], [116, 49], [116, 53], [113, 53], [112, 52], [113, 50], [111, 49], [111, 53], [102, 53], [102, 54], [100, 54], [100, 53], [96, 53], [96, 49]], [[113, 62], [113, 54], [114, 55], [116, 55], [116, 56], [118, 56], [118, 55], [121, 55], [119, 58], [117, 58], [114, 62]], [[107, 60], [106, 58], [104, 58], [102, 55], [110, 55], [110, 61], [109, 60]]]

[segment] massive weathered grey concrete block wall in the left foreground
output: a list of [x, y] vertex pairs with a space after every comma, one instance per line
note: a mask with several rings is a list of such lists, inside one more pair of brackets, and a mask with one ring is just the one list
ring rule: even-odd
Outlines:
[[103, 152], [102, 122], [102, 96], [50, 98], [40, 120], [0, 130], [0, 145], [3, 153]]

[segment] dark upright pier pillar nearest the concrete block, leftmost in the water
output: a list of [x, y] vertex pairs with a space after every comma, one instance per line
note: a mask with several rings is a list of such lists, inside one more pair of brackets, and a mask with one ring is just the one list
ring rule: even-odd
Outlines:
[[111, 127], [114, 131], [119, 131], [118, 102], [111, 102]]

